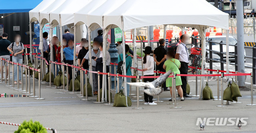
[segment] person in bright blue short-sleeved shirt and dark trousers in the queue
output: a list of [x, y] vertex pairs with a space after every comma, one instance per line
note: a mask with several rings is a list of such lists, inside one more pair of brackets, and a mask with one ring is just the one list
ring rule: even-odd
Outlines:
[[[66, 61], [69, 65], [74, 65], [74, 41], [69, 40], [68, 41], [68, 47], [63, 49], [63, 53], [65, 54]], [[70, 84], [70, 81], [72, 80], [72, 67], [68, 66], [68, 84]]]

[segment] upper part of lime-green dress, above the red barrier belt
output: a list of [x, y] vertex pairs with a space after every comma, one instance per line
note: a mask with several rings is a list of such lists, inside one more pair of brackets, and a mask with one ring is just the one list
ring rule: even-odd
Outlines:
[[171, 70], [174, 72], [174, 74], [180, 74], [179, 66], [180, 66], [180, 61], [177, 59], [169, 59], [164, 62], [164, 65], [166, 66], [166, 72]]

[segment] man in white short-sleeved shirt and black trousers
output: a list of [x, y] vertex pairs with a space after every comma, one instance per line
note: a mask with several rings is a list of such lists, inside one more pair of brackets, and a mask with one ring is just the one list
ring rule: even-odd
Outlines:
[[[178, 45], [176, 50], [175, 59], [178, 59], [180, 61], [180, 74], [188, 74], [188, 62], [189, 62], [189, 55], [188, 55], [188, 49], [186, 47], [186, 44], [189, 43], [189, 35], [184, 34], [180, 36], [181, 43]], [[182, 81], [182, 90], [183, 90], [183, 96], [190, 98], [186, 92], [186, 86], [187, 86], [187, 77], [181, 76]]]

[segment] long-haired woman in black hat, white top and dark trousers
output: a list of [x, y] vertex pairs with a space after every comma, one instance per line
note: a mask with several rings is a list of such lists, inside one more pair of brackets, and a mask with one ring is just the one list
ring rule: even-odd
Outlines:
[[[145, 47], [145, 56], [143, 57], [143, 69], [144, 76], [155, 76], [154, 75], [154, 57], [150, 56], [150, 53], [153, 53], [150, 46]], [[144, 82], [152, 82], [154, 78], [144, 78]], [[145, 88], [146, 89], [146, 88]], [[144, 92], [145, 105], [157, 105], [153, 102], [153, 96], [150, 96]]]

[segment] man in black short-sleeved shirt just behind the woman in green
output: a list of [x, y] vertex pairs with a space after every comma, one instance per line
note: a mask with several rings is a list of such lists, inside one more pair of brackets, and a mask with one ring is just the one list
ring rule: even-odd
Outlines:
[[[164, 62], [166, 61], [166, 54], [167, 54], [167, 50], [164, 47], [165, 40], [163, 38], [159, 39], [159, 44], [160, 46], [154, 50], [153, 57], [154, 57], [154, 61], [156, 62], [156, 70], [159, 70], [160, 72], [165, 72], [163, 68]], [[170, 91], [170, 89], [166, 87], [166, 82], [162, 84], [162, 87], [164, 88], [164, 91]]]

